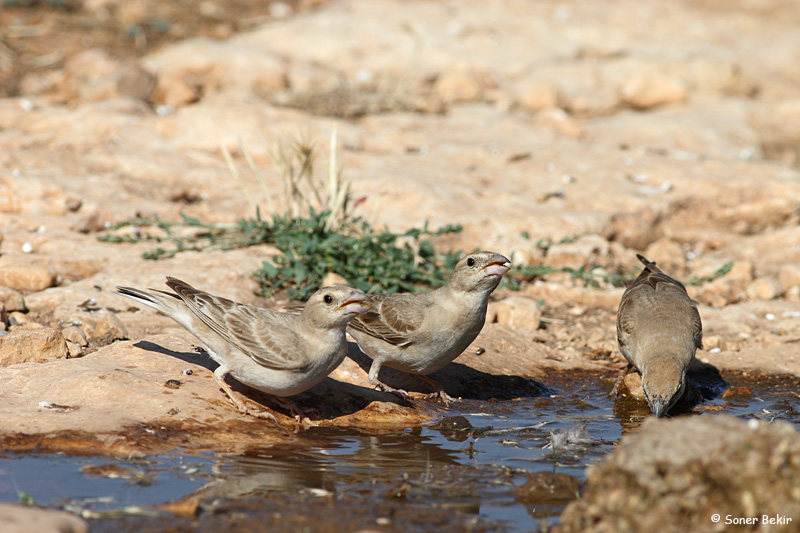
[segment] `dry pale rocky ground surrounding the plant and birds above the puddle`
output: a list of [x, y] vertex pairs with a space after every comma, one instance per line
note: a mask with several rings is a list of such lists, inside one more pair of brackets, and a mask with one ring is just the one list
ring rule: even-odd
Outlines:
[[[137, 214], [233, 223], [253, 204], [285, 209], [273, 147], [307, 136], [325, 154], [334, 129], [343, 177], [365, 199], [356, 214], [376, 226], [461, 224], [438, 244], [517, 265], [629, 275], [639, 252], [688, 281], [732, 262], [689, 287], [698, 358], [800, 375], [798, 23], [790, 0], [3, 8], [3, 446], [286, 438], [226, 403], [190, 334], [111, 292], [168, 274], [277, 305], [254, 296], [251, 276], [276, 250], [148, 261], [152, 243], [97, 237]], [[584, 281], [557, 273], [497, 291], [491, 323], [439, 376], [445, 388], [513, 394], [553, 373], [617, 372], [622, 289]], [[364, 366], [354, 353], [299, 399], [311, 421], [379, 430], [440, 416], [371, 391]], [[342, 402], [319, 408], [331, 389]], [[220, 422], [227, 431], [209, 431]]]

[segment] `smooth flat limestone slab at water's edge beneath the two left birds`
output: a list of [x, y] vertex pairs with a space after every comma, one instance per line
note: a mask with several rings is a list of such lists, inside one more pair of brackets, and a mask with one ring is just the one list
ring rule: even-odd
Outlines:
[[[80, 359], [0, 369], [0, 445], [127, 454], [280, 442], [298, 429], [288, 407], [228, 378], [248, 407], [273, 413], [280, 427], [239, 414], [214, 380], [217, 364], [195, 346], [188, 333], [151, 335]], [[431, 390], [410, 374], [381, 372], [385, 383], [409, 392], [408, 400], [375, 390], [367, 375], [371, 362], [349, 343], [348, 357], [331, 376], [291, 398], [303, 426], [396, 431], [446, 414], [444, 404], [424, 398]], [[575, 366], [508, 326], [490, 324], [461, 357], [430, 377], [465, 400], [505, 400], [544, 394], [548, 375], [562, 370]]]

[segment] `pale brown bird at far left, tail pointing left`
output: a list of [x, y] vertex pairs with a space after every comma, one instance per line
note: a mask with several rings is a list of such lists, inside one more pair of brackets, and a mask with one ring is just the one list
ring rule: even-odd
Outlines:
[[342, 362], [347, 323], [367, 310], [367, 296], [349, 287], [324, 287], [300, 313], [290, 314], [213, 296], [172, 277], [167, 277], [167, 286], [175, 292], [131, 287], [115, 292], [193, 333], [219, 363], [214, 378], [239, 412], [272, 420], [269, 413], [247, 409], [225, 376], [279, 398], [310, 389]]

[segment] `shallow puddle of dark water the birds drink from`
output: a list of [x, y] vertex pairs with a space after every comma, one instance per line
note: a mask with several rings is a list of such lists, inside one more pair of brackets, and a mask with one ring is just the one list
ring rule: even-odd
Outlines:
[[[793, 381], [727, 379], [724, 395], [691, 413], [800, 424]], [[235, 456], [0, 455], [0, 500], [30, 498], [83, 513], [94, 518], [93, 532], [255, 531], [270, 525], [536, 530], [557, 521], [586, 466], [648, 415], [637, 402], [615, 406], [608, 384], [598, 380], [550, 386], [548, 395], [536, 398], [459, 402], [441, 423], [427, 427], [373, 435], [312, 428], [290, 444]], [[199, 519], [156, 507], [190, 498], [201, 502]]]

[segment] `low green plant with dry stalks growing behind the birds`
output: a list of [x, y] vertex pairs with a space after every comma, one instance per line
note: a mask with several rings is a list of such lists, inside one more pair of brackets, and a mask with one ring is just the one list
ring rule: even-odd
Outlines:
[[350, 207], [349, 184], [342, 181], [336, 167], [335, 134], [324, 182], [315, 179], [315, 147], [308, 139], [273, 150], [284, 183], [284, 213], [272, 202], [263, 174], [242, 145], [250, 171], [266, 196], [269, 218], [261, 216], [261, 208], [245, 186], [230, 152], [225, 148], [222, 152], [255, 211], [254, 218], [233, 225], [210, 225], [184, 214], [174, 222], [157, 216], [137, 217], [108, 228], [113, 232], [130, 227], [128, 234], [105, 233], [98, 238], [106, 242], [157, 243], [154, 250], [143, 254], [145, 259], [174, 257], [189, 250], [229, 250], [270, 243], [281, 254], [273, 262], [265, 261], [253, 273], [259, 282], [258, 294], [263, 296], [286, 290], [291, 298], [306, 299], [328, 273], [343, 276], [353, 287], [378, 293], [435, 288], [449, 279], [460, 254], [438, 252], [431, 238], [458, 233], [461, 227], [448, 225], [430, 230], [426, 223], [422, 228], [393, 233], [377, 230], [355, 216]]

